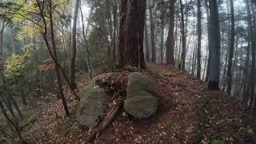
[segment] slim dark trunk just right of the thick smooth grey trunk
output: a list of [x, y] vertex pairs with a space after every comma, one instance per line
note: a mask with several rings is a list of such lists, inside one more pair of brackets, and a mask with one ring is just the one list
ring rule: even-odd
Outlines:
[[234, 57], [234, 2], [230, 0], [230, 10], [231, 10], [231, 32], [230, 32], [230, 54], [229, 54], [229, 63], [227, 66], [227, 93], [230, 94], [232, 86], [232, 66], [233, 66], [233, 57]]

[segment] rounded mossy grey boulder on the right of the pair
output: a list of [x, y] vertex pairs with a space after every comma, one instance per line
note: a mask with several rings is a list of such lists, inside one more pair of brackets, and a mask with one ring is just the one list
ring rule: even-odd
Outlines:
[[134, 118], [144, 119], [153, 116], [158, 109], [158, 90], [154, 81], [142, 73], [128, 75], [128, 90], [124, 109]]

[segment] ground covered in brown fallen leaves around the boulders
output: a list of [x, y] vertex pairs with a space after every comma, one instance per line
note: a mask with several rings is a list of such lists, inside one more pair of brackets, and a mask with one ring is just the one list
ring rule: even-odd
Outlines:
[[[124, 77], [128, 71], [123, 71]], [[214, 140], [251, 142], [254, 130], [246, 126], [245, 111], [222, 91], [208, 91], [206, 82], [166, 65], [148, 65], [145, 74], [154, 78], [161, 94], [153, 118], [134, 120], [123, 109], [95, 143], [210, 143]], [[88, 81], [79, 82], [78, 90]], [[90, 130], [75, 122], [77, 101], [66, 90], [70, 118], [61, 100], [52, 100], [22, 129], [29, 143], [87, 143]]]

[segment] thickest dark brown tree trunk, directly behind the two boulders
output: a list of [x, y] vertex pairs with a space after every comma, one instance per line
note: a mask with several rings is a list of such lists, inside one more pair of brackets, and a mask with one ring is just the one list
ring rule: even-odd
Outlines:
[[128, 0], [126, 20], [125, 62], [130, 66], [145, 68], [143, 54], [143, 30], [146, 0]]

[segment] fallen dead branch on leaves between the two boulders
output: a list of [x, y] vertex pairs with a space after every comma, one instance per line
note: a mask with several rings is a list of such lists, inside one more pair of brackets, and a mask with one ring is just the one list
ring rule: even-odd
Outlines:
[[102, 120], [102, 122], [93, 130], [92, 134], [90, 134], [89, 142], [93, 142], [94, 138], [98, 136], [110, 124], [110, 122], [114, 119], [114, 116], [118, 113], [119, 107], [121, 105], [118, 103], [106, 114], [106, 117]]

